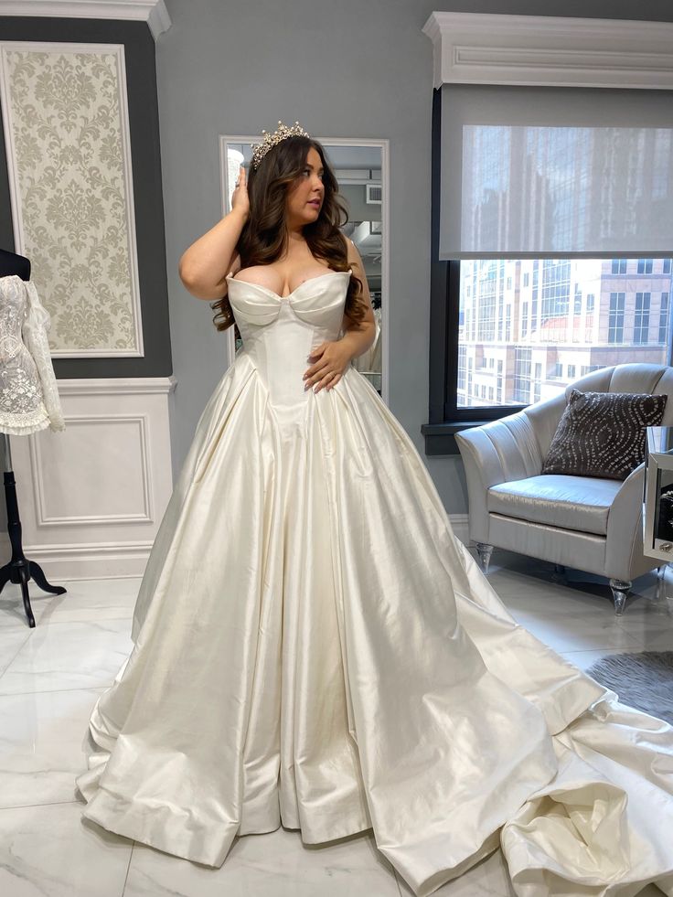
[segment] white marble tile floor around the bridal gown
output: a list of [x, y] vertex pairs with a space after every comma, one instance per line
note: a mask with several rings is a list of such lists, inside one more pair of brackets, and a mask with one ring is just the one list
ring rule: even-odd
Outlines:
[[[635, 583], [614, 616], [597, 578], [495, 551], [490, 582], [518, 620], [582, 668], [605, 654], [673, 647], [673, 576]], [[283, 828], [234, 842], [219, 870], [144, 847], [80, 818], [73, 778], [94, 701], [131, 651], [139, 580], [31, 583], [28, 629], [16, 585], [0, 594], [0, 894], [3, 897], [407, 897], [411, 889], [371, 834], [304, 846]], [[668, 598], [667, 595], [672, 597]], [[513, 895], [499, 852], [449, 882], [438, 897]], [[650, 885], [639, 897], [661, 892]]]

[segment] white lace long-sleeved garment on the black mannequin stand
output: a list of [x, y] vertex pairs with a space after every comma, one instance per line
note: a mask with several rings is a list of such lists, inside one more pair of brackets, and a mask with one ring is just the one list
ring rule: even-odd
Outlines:
[[0, 277], [0, 432], [64, 430], [48, 345], [48, 311], [32, 281]]

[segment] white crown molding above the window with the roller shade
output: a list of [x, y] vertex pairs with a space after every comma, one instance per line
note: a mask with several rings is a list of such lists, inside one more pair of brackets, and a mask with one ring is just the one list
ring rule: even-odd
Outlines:
[[433, 83], [673, 90], [673, 22], [433, 12]]

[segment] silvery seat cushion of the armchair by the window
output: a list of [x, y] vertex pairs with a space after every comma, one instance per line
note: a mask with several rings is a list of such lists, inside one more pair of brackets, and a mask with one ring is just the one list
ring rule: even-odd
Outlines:
[[488, 510], [530, 523], [607, 534], [607, 515], [622, 484], [614, 479], [546, 474], [499, 483]]

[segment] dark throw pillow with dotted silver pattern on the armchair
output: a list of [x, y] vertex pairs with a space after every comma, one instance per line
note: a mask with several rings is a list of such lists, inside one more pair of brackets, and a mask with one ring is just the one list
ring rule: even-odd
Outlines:
[[542, 473], [624, 480], [645, 461], [645, 429], [660, 425], [667, 398], [571, 390]]

